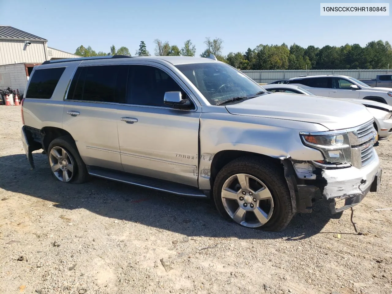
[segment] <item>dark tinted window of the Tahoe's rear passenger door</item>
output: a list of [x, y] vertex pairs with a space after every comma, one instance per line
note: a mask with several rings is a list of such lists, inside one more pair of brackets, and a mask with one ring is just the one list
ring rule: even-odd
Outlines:
[[67, 99], [125, 103], [128, 69], [128, 65], [79, 67]]

